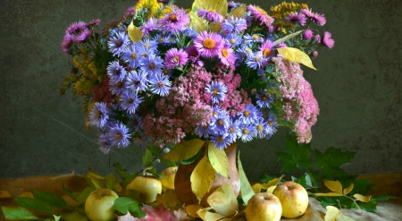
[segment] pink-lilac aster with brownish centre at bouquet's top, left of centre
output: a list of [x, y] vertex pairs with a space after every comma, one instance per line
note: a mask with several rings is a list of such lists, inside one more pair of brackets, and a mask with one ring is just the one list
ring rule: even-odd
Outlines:
[[172, 33], [181, 30], [186, 30], [190, 20], [188, 13], [183, 9], [174, 9], [172, 13], [166, 14], [163, 19], [159, 20], [159, 25], [163, 30], [168, 30]]

